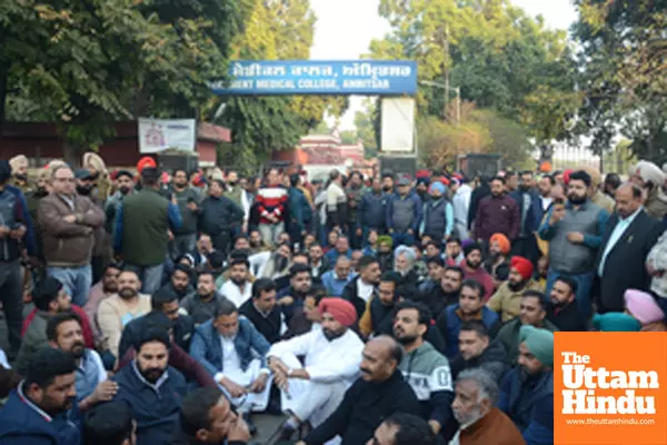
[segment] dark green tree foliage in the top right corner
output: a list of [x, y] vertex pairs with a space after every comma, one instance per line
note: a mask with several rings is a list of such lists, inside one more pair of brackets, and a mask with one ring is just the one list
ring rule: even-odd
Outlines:
[[667, 1], [575, 4], [577, 83], [585, 95], [577, 134], [600, 154], [620, 131], [634, 154], [660, 165], [667, 160]]

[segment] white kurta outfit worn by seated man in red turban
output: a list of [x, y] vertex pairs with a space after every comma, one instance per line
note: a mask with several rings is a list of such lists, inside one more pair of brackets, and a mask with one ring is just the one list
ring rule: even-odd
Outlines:
[[362, 350], [364, 343], [351, 329], [332, 342], [321, 329], [313, 329], [271, 346], [267, 357], [278, 357], [292, 368], [300, 368], [297, 356], [305, 356], [305, 369], [310, 376], [309, 380], [289, 379], [287, 393], [281, 392], [283, 409], [317, 427], [336, 411], [359, 375]]

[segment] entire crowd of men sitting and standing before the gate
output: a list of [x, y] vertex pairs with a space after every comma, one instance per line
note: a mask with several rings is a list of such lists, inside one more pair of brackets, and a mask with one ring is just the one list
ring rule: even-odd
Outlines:
[[28, 167], [0, 161], [1, 444], [242, 444], [253, 413], [300, 445], [552, 444], [555, 332], [667, 330], [647, 161]]

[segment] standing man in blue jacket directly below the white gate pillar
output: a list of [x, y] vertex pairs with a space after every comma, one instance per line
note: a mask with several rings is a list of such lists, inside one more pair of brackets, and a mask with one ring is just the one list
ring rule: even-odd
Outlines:
[[421, 214], [421, 199], [411, 190], [410, 179], [400, 178], [398, 192], [391, 195], [387, 200], [387, 229], [391, 235], [394, 246], [415, 244]]

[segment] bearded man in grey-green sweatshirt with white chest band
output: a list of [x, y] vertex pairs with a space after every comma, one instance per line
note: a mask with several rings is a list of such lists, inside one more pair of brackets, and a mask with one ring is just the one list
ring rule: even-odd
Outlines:
[[421, 417], [428, 419], [434, 433], [449, 441], [456, 431], [451, 372], [447, 358], [424, 338], [430, 323], [430, 313], [422, 304], [406, 300], [396, 305], [394, 338], [406, 353], [398, 368], [417, 395]]

